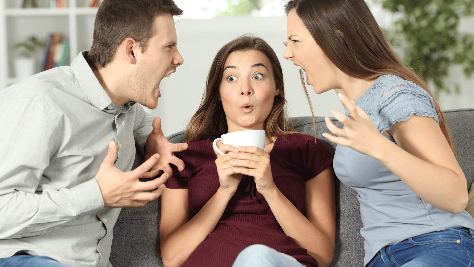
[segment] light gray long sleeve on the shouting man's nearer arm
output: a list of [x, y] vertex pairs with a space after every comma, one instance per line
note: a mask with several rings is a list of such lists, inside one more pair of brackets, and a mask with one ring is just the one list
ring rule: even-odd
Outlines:
[[52, 108], [28, 97], [3, 101], [0, 113], [0, 239], [41, 235], [103, 209], [93, 177], [72, 188], [38, 191], [61, 127]]

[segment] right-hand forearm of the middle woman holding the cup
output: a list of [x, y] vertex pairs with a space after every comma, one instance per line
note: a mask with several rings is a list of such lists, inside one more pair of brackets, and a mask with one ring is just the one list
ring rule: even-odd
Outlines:
[[332, 239], [301, 214], [278, 188], [275, 187], [264, 197], [285, 234], [301, 248], [307, 249], [319, 266], [329, 266], [334, 256]]

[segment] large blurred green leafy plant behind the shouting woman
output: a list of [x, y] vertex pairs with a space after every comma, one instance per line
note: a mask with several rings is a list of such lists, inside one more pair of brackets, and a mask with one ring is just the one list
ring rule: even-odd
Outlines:
[[434, 94], [459, 93], [459, 84], [447, 84], [448, 70], [461, 65], [465, 76], [474, 73], [474, 36], [458, 30], [463, 16], [474, 15], [473, 0], [376, 0], [393, 13], [389, 42], [401, 48], [403, 59], [432, 85]]

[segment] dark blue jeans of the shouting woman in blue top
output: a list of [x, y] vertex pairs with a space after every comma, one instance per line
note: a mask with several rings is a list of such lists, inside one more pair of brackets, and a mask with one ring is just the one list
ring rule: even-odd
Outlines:
[[474, 264], [474, 231], [446, 229], [382, 248], [367, 267], [463, 267]]

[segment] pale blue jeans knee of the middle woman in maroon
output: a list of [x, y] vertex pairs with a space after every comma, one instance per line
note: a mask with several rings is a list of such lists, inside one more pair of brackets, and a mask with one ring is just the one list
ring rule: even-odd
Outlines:
[[256, 244], [242, 250], [232, 267], [304, 267], [290, 255]]

